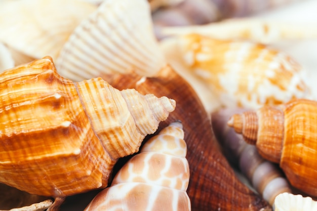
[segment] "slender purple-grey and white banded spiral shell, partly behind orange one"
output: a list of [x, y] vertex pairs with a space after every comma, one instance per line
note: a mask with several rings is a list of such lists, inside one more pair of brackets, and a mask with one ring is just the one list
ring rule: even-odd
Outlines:
[[253, 145], [247, 144], [226, 124], [230, 115], [242, 109], [221, 109], [212, 113], [212, 126], [224, 155], [249, 180], [252, 187], [273, 205], [277, 195], [291, 193], [291, 187], [275, 164], [263, 159]]

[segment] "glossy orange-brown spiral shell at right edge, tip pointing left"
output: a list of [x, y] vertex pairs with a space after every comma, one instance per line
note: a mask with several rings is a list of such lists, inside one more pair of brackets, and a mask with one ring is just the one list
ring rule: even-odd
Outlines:
[[298, 99], [234, 114], [228, 124], [260, 155], [279, 163], [291, 185], [317, 196], [317, 102]]

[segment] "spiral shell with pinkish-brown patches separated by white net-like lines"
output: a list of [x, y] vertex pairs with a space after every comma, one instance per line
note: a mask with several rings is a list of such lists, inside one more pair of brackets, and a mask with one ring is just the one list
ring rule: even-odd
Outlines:
[[190, 210], [189, 166], [180, 122], [149, 139], [85, 211]]

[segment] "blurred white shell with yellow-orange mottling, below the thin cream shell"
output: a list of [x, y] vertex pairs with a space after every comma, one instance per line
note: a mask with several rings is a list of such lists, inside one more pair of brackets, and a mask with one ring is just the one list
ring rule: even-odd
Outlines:
[[[202, 93], [208, 111], [217, 106], [259, 108], [310, 95], [307, 72], [290, 56], [261, 44], [186, 34], [162, 41], [162, 49]], [[208, 92], [214, 96], [210, 100]]]

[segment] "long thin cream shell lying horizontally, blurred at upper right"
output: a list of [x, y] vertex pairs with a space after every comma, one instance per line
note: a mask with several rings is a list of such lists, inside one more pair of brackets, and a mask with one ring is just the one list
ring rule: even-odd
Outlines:
[[317, 29], [312, 22], [266, 20], [258, 17], [231, 18], [204, 25], [165, 26], [161, 36], [197, 33], [216, 39], [245, 39], [262, 44], [279, 41], [309, 39], [317, 37]]

